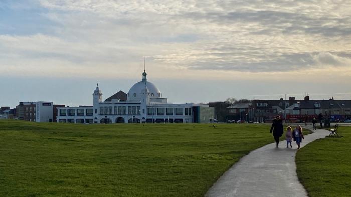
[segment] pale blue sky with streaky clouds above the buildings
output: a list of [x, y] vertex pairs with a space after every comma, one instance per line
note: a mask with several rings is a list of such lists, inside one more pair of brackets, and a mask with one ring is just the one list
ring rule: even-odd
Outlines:
[[0, 0], [0, 106], [92, 105], [143, 58], [172, 103], [350, 100], [351, 2]]

